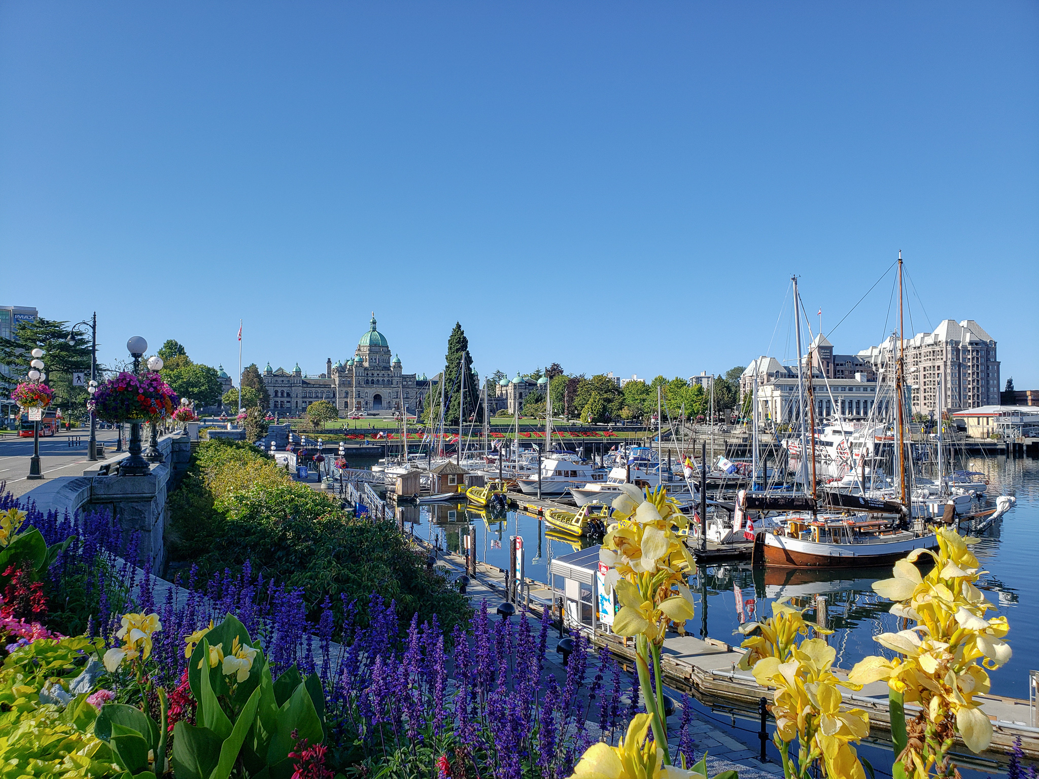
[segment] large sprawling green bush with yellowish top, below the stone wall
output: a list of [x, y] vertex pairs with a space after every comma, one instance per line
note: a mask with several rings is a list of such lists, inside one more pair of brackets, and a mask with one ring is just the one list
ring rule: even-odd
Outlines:
[[169, 505], [170, 554], [203, 577], [249, 563], [301, 589], [312, 615], [329, 596], [337, 622], [342, 597], [365, 603], [372, 592], [396, 600], [405, 618], [434, 613], [449, 629], [468, 616], [465, 599], [396, 526], [354, 517], [255, 447], [204, 442]]

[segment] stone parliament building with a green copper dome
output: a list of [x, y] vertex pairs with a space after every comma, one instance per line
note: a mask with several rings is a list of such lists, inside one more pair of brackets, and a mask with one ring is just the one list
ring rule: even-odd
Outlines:
[[270, 393], [270, 410], [288, 415], [303, 413], [319, 400], [335, 405], [340, 417], [402, 409], [415, 413], [429, 386], [428, 381], [417, 382], [416, 374], [403, 372], [400, 357], [393, 355], [390, 343], [376, 328], [374, 314], [349, 359], [332, 365], [328, 357], [325, 372], [318, 375], [304, 375], [298, 364], [290, 373], [284, 368], [271, 370], [268, 362], [262, 376]]

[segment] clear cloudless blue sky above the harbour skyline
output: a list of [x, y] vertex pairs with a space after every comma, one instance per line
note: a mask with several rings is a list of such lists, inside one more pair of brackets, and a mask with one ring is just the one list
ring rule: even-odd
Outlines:
[[902, 249], [914, 329], [1039, 387], [1037, 221], [1035, 3], [0, 4], [0, 301], [96, 308], [103, 359], [230, 369], [242, 318], [316, 373], [374, 308], [407, 371], [458, 320], [484, 374], [689, 376]]

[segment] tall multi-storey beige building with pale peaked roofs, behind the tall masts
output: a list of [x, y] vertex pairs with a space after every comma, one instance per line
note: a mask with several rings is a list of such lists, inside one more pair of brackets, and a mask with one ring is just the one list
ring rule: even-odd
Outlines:
[[[920, 332], [903, 344], [906, 382], [912, 391], [913, 413], [938, 414], [1000, 403], [1000, 361], [995, 340], [973, 319], [947, 319], [934, 332]], [[891, 335], [879, 346], [856, 356], [894, 375], [898, 339]], [[938, 408], [938, 382], [943, 388]]]

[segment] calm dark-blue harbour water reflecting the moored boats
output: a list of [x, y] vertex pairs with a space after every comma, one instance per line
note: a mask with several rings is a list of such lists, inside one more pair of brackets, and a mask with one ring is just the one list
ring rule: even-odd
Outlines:
[[[1036, 609], [1039, 592], [1039, 461], [971, 457], [961, 458], [956, 466], [984, 473], [989, 495], [1017, 498], [1016, 507], [983, 535], [975, 554], [983, 569], [990, 571], [980, 587], [998, 607], [996, 613], [1010, 618], [1008, 638], [1014, 647], [1010, 663], [991, 674], [992, 692], [1027, 697], [1029, 667], [1035, 666], [1030, 647], [1039, 645], [1039, 621], [1027, 616]], [[509, 536], [522, 535], [527, 575], [540, 582], [549, 581], [552, 559], [591, 545], [587, 539], [556, 533], [537, 517], [516, 511], [496, 515], [467, 511], [460, 505], [411, 506], [407, 510], [405, 528], [414, 528], [416, 535], [452, 552], [462, 548], [461, 536], [473, 527], [477, 558], [499, 568], [508, 566]], [[807, 616], [814, 618], [817, 598], [825, 597], [827, 621], [834, 629], [829, 641], [837, 650], [837, 665], [850, 668], [867, 654], [884, 653], [874, 636], [902, 627], [888, 613], [890, 603], [872, 589], [877, 580], [888, 576], [888, 567], [825, 571], [753, 570], [744, 564], [712, 566], [691, 577], [690, 587], [698, 602], [696, 617], [687, 629], [734, 642], [739, 640], [732, 634], [741, 619], [771, 613], [771, 603], [778, 598], [788, 597], [793, 606], [808, 609]]]

